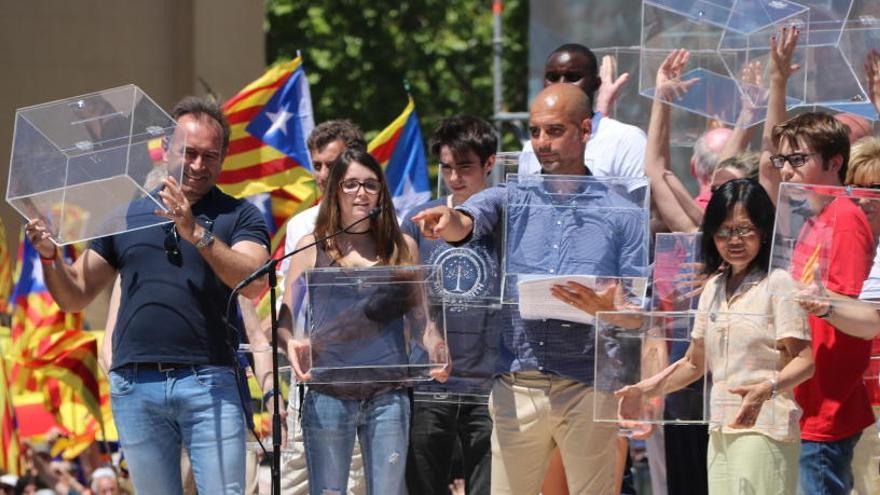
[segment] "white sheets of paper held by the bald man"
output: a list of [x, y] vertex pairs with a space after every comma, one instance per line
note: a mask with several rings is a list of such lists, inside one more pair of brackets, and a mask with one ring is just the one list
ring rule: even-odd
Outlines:
[[554, 319], [593, 324], [595, 318], [550, 294], [554, 285], [577, 282], [596, 288], [592, 275], [520, 275], [516, 283], [519, 291], [519, 316], [523, 320]]

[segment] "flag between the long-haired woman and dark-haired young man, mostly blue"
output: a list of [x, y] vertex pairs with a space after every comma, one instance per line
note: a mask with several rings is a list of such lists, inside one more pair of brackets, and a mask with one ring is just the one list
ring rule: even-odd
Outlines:
[[431, 199], [428, 158], [412, 97], [403, 113], [370, 141], [367, 151], [385, 168], [398, 216]]

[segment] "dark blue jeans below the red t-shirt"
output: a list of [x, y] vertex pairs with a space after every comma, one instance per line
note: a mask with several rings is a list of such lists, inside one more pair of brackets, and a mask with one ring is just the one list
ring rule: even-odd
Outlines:
[[852, 456], [862, 433], [834, 442], [801, 441], [800, 489], [803, 495], [849, 495]]

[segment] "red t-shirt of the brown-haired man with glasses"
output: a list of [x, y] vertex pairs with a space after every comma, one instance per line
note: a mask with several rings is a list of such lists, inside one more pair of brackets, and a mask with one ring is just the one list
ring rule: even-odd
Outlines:
[[[828, 290], [858, 297], [874, 260], [874, 236], [862, 210], [837, 198], [801, 229], [792, 273], [802, 282], [819, 267]], [[841, 440], [874, 422], [863, 380], [871, 342], [849, 336], [810, 315], [813, 333], [813, 377], [795, 388], [803, 408], [801, 438], [814, 442]]]

